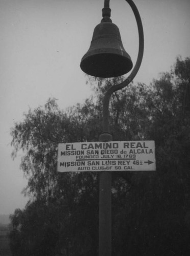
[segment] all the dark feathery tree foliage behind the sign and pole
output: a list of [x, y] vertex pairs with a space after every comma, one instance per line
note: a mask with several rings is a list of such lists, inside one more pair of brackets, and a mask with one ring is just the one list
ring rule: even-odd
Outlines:
[[[157, 168], [112, 173], [113, 255], [189, 255], [189, 74], [190, 58], [178, 57], [149, 86], [112, 95], [114, 140], [155, 140]], [[15, 123], [13, 157], [23, 151], [31, 200], [11, 216], [14, 256], [98, 254], [98, 173], [57, 173], [57, 145], [98, 141], [103, 95], [122, 79], [90, 78], [94, 96], [84, 104], [62, 111], [49, 99]]]

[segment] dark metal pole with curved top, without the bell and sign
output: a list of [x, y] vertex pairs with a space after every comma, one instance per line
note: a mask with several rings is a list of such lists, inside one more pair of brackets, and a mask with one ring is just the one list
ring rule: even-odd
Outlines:
[[[103, 99], [103, 127], [100, 141], [112, 141], [112, 135], [109, 130], [109, 102], [111, 95], [126, 86], [132, 81], [138, 73], [141, 66], [144, 52], [144, 33], [139, 11], [132, 0], [126, 0], [130, 5], [138, 25], [139, 32], [139, 53], [133, 70], [130, 75], [121, 83], [111, 87], [104, 95]], [[103, 19], [110, 19], [109, 11], [110, 0], [104, 0], [102, 9]], [[108, 16], [107, 14], [108, 13]], [[99, 182], [99, 256], [112, 255], [112, 173], [101, 172]]]

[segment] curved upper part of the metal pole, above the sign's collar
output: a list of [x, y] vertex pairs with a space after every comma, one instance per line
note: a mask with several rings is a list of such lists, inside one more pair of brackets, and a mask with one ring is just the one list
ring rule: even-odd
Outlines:
[[[104, 0], [104, 6], [109, 6], [110, 0]], [[132, 0], [126, 0], [126, 2], [130, 5], [135, 19], [137, 21], [137, 26], [138, 26], [138, 32], [139, 32], [139, 53], [138, 53], [138, 58], [135, 63], [135, 66], [130, 73], [130, 75], [121, 83], [116, 84], [115, 86], [111, 87], [105, 94], [104, 99], [103, 99], [103, 133], [109, 131], [109, 102], [110, 102], [110, 97], [111, 95], [118, 91], [123, 89], [124, 87], [128, 86], [128, 84], [132, 81], [132, 79], [135, 77], [137, 72], [139, 71], [139, 68], [141, 66], [141, 62], [143, 59], [143, 53], [144, 53], [144, 33], [143, 33], [143, 25], [141, 21], [141, 17], [139, 14], [139, 11], [135, 4], [133, 3]]]

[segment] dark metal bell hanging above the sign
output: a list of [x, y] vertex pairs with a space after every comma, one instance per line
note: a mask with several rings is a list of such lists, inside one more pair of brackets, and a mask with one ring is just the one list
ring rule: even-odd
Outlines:
[[101, 22], [93, 33], [88, 52], [80, 68], [91, 76], [116, 77], [132, 69], [132, 61], [123, 48], [119, 28], [112, 22]]

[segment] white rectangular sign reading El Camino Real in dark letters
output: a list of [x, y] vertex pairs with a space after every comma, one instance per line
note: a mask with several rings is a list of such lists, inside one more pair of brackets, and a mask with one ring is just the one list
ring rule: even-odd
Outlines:
[[60, 143], [58, 172], [156, 170], [154, 141]]

